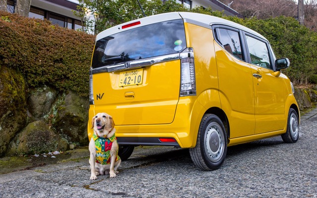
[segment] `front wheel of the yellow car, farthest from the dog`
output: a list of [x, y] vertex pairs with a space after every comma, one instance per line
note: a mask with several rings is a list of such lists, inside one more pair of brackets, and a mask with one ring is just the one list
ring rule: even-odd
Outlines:
[[285, 143], [296, 143], [299, 138], [299, 120], [293, 108], [290, 108], [288, 112], [286, 133], [281, 136]]

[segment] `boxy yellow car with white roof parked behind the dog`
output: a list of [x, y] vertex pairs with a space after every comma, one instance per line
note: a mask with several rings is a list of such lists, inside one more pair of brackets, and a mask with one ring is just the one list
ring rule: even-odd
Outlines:
[[198, 168], [217, 169], [228, 146], [278, 135], [297, 142], [300, 112], [280, 71], [289, 64], [262, 35], [225, 19], [140, 18], [96, 37], [89, 120], [113, 117], [122, 159], [135, 146], [173, 146], [190, 148]]

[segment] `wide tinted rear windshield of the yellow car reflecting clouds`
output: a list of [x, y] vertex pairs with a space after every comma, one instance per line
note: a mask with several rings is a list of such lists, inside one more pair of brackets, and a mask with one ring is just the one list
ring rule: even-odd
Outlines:
[[164, 21], [110, 35], [96, 42], [92, 67], [180, 52], [186, 48], [182, 19]]

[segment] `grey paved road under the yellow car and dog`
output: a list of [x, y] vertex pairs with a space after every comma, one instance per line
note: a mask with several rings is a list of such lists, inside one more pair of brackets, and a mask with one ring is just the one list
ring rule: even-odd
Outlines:
[[116, 178], [90, 181], [88, 151], [73, 150], [60, 163], [0, 175], [0, 198], [317, 198], [317, 109], [302, 118], [296, 144], [275, 137], [229, 147], [215, 171], [197, 169], [188, 149], [143, 147]]

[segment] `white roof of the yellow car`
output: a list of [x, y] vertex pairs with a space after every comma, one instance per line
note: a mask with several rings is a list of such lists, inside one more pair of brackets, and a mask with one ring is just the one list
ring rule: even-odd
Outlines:
[[[126, 23], [122, 23], [120, 25], [106, 29], [97, 35], [96, 41], [98, 41], [102, 38], [105, 38], [107, 36], [110, 36], [110, 35], [113, 35], [113, 34], [116, 34], [116, 33], [122, 32], [122, 31], [126, 31], [129, 29], [133, 29], [136, 27], [141, 27], [141, 26], [145, 26], [145, 25], [149, 25], [149, 24], [153, 24], [153, 23], [175, 20], [175, 19], [184, 19], [184, 21], [188, 22], [188, 23], [192, 23], [193, 21], [195, 21], [196, 22], [195, 24], [201, 24], [202, 26], [205, 26], [205, 27], [210, 27], [213, 24], [229, 25], [231, 27], [235, 27], [235, 28], [244, 30], [246, 32], [249, 32], [251, 34], [254, 34], [254, 35], [266, 40], [261, 34], [251, 30], [250, 28], [247, 28], [243, 25], [240, 25], [238, 23], [235, 23], [235, 22], [223, 19], [223, 18], [219, 18], [219, 17], [207, 15], [207, 14], [194, 13], [194, 12], [167, 12], [167, 13], [163, 13], [163, 14], [157, 14], [157, 15], [152, 15], [152, 16], [148, 16], [148, 17], [144, 17], [144, 18], [139, 18], [139, 19], [129, 21]], [[124, 27], [125, 25], [135, 23], [135, 22], [140, 22], [140, 24], [138, 24], [136, 26], [126, 27], [126, 28], [122, 29], [122, 27]]]

